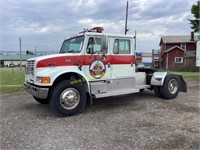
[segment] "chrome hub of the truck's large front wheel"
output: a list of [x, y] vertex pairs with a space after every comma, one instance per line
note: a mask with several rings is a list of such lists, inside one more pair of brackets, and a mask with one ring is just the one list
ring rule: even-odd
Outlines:
[[80, 102], [80, 94], [74, 88], [64, 90], [60, 95], [60, 104], [64, 109], [74, 109]]

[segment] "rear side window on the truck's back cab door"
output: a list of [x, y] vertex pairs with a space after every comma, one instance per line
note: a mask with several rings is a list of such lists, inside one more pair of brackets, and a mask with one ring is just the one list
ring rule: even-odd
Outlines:
[[130, 54], [130, 40], [115, 39], [113, 46], [114, 54]]

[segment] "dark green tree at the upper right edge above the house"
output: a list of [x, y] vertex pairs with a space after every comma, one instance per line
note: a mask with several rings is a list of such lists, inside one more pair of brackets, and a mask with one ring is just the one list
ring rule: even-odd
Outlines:
[[199, 30], [199, 5], [200, 5], [200, 0], [197, 1], [196, 4], [192, 5], [191, 8], [191, 13], [194, 17], [194, 19], [190, 20], [190, 24], [191, 24], [191, 29], [194, 30], [194, 32], [200, 32]]

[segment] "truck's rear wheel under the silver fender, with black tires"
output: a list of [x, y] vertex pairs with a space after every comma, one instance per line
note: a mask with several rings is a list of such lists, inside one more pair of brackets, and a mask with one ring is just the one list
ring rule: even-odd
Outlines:
[[176, 75], [169, 74], [166, 76], [164, 84], [160, 87], [160, 93], [165, 99], [174, 99], [179, 93], [179, 79]]

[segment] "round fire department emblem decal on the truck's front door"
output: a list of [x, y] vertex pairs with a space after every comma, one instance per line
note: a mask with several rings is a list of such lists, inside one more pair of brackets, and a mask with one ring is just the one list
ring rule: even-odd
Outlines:
[[95, 60], [89, 67], [90, 74], [95, 79], [102, 78], [106, 73], [106, 66], [100, 60]]

